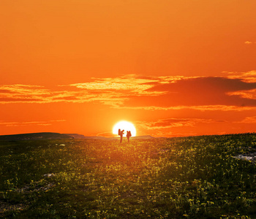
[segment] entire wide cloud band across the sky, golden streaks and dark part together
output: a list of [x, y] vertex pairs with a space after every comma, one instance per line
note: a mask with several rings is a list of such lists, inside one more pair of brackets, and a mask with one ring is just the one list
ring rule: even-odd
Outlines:
[[143, 110], [256, 110], [256, 71], [226, 72], [225, 77], [92, 78], [58, 85], [0, 85], [0, 103], [100, 103]]

